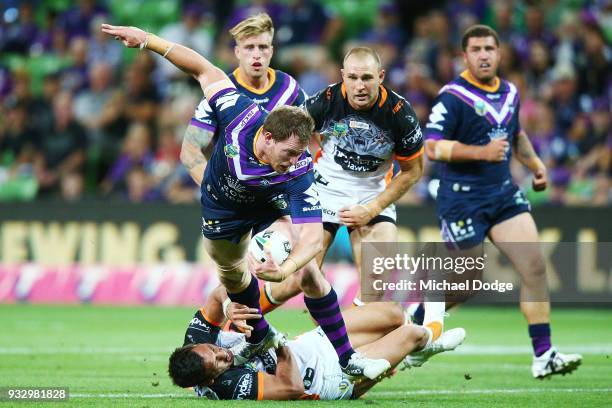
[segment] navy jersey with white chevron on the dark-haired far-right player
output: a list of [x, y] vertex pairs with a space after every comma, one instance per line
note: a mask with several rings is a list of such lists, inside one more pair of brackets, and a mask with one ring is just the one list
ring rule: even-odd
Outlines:
[[[445, 85], [434, 102], [425, 137], [447, 139], [483, 146], [494, 139], [510, 145], [520, 132], [520, 98], [514, 84], [496, 79], [496, 85], [483, 87], [471, 80], [467, 71]], [[511, 179], [508, 149], [506, 159], [490, 163], [471, 161], [443, 163], [441, 183], [464, 182], [475, 185], [501, 184]]]

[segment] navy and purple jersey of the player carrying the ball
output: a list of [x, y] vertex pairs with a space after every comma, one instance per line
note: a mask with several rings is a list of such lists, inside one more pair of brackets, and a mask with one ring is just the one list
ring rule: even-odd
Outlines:
[[209, 104], [217, 118], [218, 139], [201, 186], [203, 213], [218, 219], [236, 213], [248, 218], [274, 202], [279, 209], [289, 208], [293, 223], [320, 222], [310, 153], [302, 153], [287, 173], [279, 174], [255, 153], [268, 112], [235, 88], [217, 92]]

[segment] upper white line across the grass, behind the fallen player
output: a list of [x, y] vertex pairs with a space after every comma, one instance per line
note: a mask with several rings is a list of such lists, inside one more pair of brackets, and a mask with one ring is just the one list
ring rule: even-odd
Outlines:
[[[582, 344], [561, 345], [561, 352], [581, 354], [612, 354], [612, 344]], [[170, 354], [173, 347], [0, 347], [0, 354], [136, 354], [138, 356], [152, 354]], [[478, 345], [464, 344], [457, 347], [451, 354], [462, 355], [531, 355], [529, 346], [505, 346], [499, 344]]]

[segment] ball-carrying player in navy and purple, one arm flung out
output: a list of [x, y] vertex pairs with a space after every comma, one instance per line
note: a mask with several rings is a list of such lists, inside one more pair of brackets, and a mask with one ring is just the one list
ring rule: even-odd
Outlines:
[[[307, 151], [314, 128], [312, 118], [292, 106], [266, 111], [240, 94], [223, 71], [180, 44], [136, 27], [103, 24], [102, 31], [127, 47], [154, 51], [192, 75], [216, 115], [219, 138], [210, 163], [201, 152], [210, 140], [203, 139], [191, 145], [197, 151], [182, 150], [181, 160], [190, 157], [197, 161], [187, 167], [202, 193], [204, 247], [216, 263], [228, 296], [258, 308], [259, 288], [251, 272], [267, 281], [297, 274], [304, 303], [330, 338], [343, 372], [373, 379], [387, 371], [388, 361], [364, 357], [351, 346], [336, 292], [314, 260], [322, 246], [323, 226]], [[250, 264], [247, 270], [249, 235], [268, 227], [290, 238], [291, 254], [281, 265], [270, 260]], [[238, 353], [245, 359], [275, 337], [262, 316], [251, 325], [251, 336]]]

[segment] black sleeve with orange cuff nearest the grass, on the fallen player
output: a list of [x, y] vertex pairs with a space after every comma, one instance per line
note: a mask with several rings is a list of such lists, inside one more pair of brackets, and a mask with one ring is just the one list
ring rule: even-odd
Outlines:
[[258, 400], [263, 396], [263, 384], [259, 384], [262, 376], [247, 366], [232, 367], [209, 388], [222, 400]]

